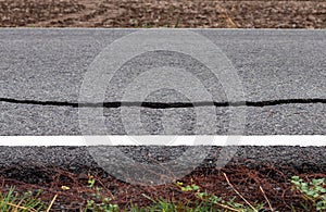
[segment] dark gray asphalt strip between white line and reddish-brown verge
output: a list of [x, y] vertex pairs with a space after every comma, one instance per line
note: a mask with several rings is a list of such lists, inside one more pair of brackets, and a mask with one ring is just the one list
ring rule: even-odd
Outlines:
[[[36, 184], [47, 180], [42, 174], [47, 169], [67, 170], [84, 176], [87, 173], [102, 173], [103, 169], [106, 174], [121, 180], [156, 185], [172, 183], [176, 176], [180, 178], [196, 167], [203, 169], [204, 172], [208, 167], [220, 167], [218, 147], [208, 149], [206, 157], [200, 164], [188, 158], [181, 164], [176, 163], [176, 170], [168, 165], [184, 152], [191, 151], [191, 148], [193, 149], [193, 147], [120, 147], [117, 150], [135, 162], [123, 165], [124, 162], [118, 161], [117, 153], [115, 158], [106, 161], [110, 167], [105, 167], [98, 165], [98, 159], [91, 155], [86, 147], [1, 147], [0, 175]], [[106, 151], [117, 152], [115, 147], [108, 147]], [[276, 169], [288, 177], [298, 173], [326, 173], [325, 152], [325, 148], [321, 147], [239, 147], [226, 169], [234, 165], [262, 172], [268, 169], [271, 169], [268, 172], [273, 172], [273, 169]], [[112, 153], [110, 154], [112, 157]], [[149, 169], [145, 170], [147, 166]], [[51, 172], [47, 172], [49, 173]], [[162, 175], [171, 178], [163, 182], [158, 179], [158, 176]], [[277, 173], [274, 176], [284, 177], [284, 175]], [[273, 177], [273, 174], [271, 176]]]

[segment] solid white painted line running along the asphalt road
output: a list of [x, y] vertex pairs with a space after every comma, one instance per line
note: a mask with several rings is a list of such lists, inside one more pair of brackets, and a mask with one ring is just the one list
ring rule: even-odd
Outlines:
[[[0, 136], [0, 146], [326, 146], [326, 136]], [[200, 141], [196, 141], [200, 140]], [[230, 141], [231, 140], [231, 141]], [[234, 142], [238, 140], [239, 142]], [[90, 144], [91, 141], [91, 144]]]

